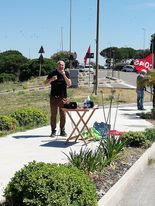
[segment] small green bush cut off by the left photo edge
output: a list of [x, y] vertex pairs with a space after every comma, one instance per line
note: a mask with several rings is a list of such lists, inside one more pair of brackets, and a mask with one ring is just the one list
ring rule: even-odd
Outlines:
[[0, 116], [0, 131], [14, 130], [17, 126], [17, 121], [13, 117], [6, 115]]

